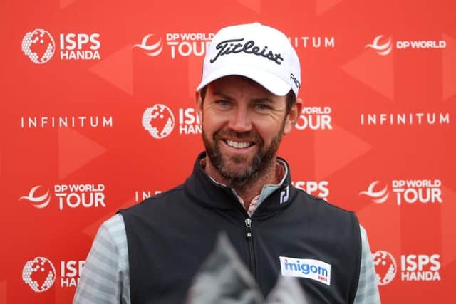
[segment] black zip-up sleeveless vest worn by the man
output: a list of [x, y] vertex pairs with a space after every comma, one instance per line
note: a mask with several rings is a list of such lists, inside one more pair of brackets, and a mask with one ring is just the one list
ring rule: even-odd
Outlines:
[[[185, 184], [119, 211], [128, 240], [132, 303], [183, 303], [219, 231], [229, 236], [265, 296], [284, 268], [280, 257], [288, 257], [331, 265], [330, 285], [298, 278], [311, 303], [353, 303], [361, 265], [353, 212], [294, 188], [288, 175], [246, 225], [244, 207], [232, 189], [207, 176], [202, 157]], [[286, 268], [299, 273], [296, 261]]]

